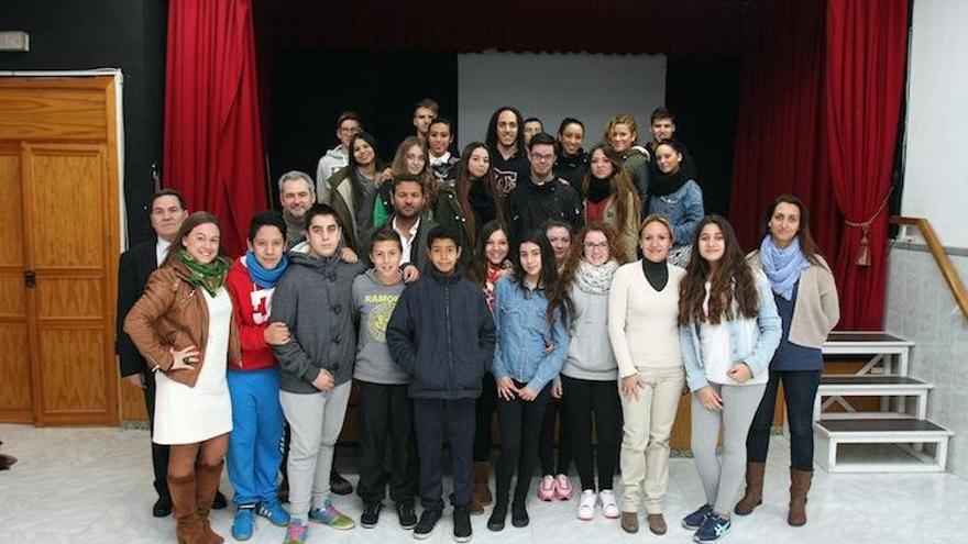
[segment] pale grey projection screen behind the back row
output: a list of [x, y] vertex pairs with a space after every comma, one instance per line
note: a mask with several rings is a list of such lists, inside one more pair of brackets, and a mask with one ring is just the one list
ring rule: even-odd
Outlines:
[[649, 114], [666, 102], [664, 55], [496, 53], [458, 56], [458, 142], [484, 141], [494, 110], [513, 106], [537, 116], [554, 135], [566, 116], [585, 123], [585, 149], [602, 137], [608, 118], [631, 113], [639, 140], [649, 138]]

